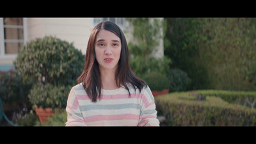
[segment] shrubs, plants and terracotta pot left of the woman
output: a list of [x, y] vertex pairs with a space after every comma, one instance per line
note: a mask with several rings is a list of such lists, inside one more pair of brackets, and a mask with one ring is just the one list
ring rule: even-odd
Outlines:
[[63, 125], [59, 121], [67, 121], [68, 93], [76, 84], [84, 61], [84, 54], [73, 44], [53, 36], [36, 38], [24, 45], [14, 61], [15, 68], [0, 75], [1, 107], [6, 111], [15, 109], [12, 123]]

